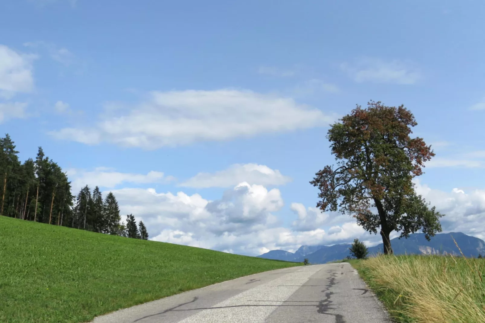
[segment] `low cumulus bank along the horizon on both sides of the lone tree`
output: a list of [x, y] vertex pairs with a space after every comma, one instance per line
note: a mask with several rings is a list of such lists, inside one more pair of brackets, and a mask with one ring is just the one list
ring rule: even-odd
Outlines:
[[[419, 181], [415, 184], [418, 194], [446, 214], [441, 218], [444, 232], [461, 231], [485, 238], [485, 190], [456, 188], [447, 193]], [[243, 182], [212, 201], [200, 194], [158, 193], [153, 188], [112, 192], [121, 213], [143, 220], [155, 241], [253, 256], [275, 249], [294, 251], [302, 244], [349, 243], [355, 238], [368, 246], [382, 242], [379, 235], [364, 231], [347, 215], [322, 213], [301, 203], [291, 204], [296, 219], [291, 227], [283, 226], [278, 217], [284, 206], [280, 191], [262, 185]], [[393, 232], [391, 239], [397, 236], [399, 233]]]

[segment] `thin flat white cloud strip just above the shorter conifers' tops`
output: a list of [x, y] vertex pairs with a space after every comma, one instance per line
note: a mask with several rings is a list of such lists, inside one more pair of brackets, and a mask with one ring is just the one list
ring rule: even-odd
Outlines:
[[72, 182], [71, 186], [74, 192], [78, 192], [85, 185], [92, 189], [95, 186], [114, 188], [122, 183], [151, 184], [174, 180], [172, 176], [165, 176], [162, 172], [150, 171], [146, 175], [120, 173], [106, 167], [97, 167], [94, 171], [71, 168], [66, 173]]

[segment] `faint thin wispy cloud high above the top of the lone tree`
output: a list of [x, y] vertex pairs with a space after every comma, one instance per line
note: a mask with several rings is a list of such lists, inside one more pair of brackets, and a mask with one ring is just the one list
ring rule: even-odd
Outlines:
[[408, 62], [365, 58], [354, 65], [342, 63], [340, 68], [356, 82], [414, 84], [421, 79], [420, 71]]

